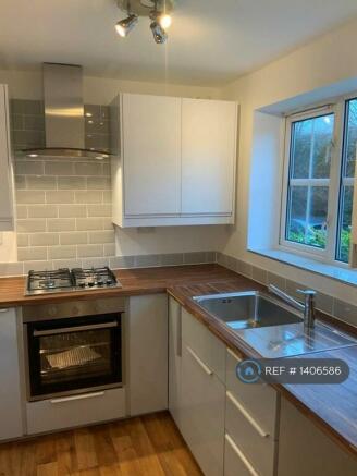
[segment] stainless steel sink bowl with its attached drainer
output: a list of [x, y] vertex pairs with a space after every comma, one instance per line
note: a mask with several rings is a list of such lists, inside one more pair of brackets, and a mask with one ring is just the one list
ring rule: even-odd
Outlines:
[[291, 357], [357, 345], [357, 340], [317, 321], [304, 329], [295, 309], [267, 294], [210, 294], [193, 300], [266, 358]]

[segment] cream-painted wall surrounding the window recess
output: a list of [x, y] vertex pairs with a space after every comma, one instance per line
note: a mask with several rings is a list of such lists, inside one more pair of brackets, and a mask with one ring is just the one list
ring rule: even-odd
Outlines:
[[[274, 110], [272, 105], [296, 107], [342, 91], [357, 89], [357, 21], [354, 21], [264, 68], [227, 85], [222, 97], [241, 105], [237, 167], [237, 222], [231, 229], [223, 253], [278, 272], [345, 301], [357, 303], [353, 288], [317, 277], [247, 252], [249, 182], [254, 164], [254, 121], [257, 109]], [[280, 110], [279, 106], [275, 110]], [[280, 158], [281, 159], [281, 158]], [[279, 160], [279, 158], [278, 158]], [[257, 191], [255, 191], [257, 193]], [[263, 193], [263, 190], [261, 191]], [[250, 199], [255, 194], [251, 194]]]

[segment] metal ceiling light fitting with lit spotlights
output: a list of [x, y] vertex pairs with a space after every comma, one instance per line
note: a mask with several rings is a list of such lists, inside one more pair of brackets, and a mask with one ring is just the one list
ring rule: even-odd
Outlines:
[[173, 8], [173, 0], [116, 0], [118, 7], [127, 13], [127, 17], [115, 24], [116, 33], [125, 38], [138, 23], [139, 16], [149, 16], [151, 20], [150, 29], [155, 41], [162, 45], [168, 39], [167, 29], [172, 20], [170, 12]]

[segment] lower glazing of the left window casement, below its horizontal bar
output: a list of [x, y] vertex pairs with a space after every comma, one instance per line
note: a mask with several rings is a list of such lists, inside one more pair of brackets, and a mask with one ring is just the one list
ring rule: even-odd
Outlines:
[[328, 198], [328, 186], [291, 186], [286, 240], [325, 248]]

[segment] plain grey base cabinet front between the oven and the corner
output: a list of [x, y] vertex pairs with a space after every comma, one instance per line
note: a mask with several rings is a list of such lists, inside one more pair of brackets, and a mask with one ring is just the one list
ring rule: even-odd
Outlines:
[[168, 408], [168, 296], [132, 296], [126, 316], [128, 413]]

